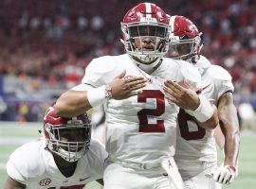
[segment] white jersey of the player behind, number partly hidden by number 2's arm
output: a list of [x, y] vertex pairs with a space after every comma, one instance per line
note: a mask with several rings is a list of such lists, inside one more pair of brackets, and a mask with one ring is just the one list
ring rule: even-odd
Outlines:
[[[195, 64], [202, 77], [202, 94], [217, 106], [219, 97], [233, 91], [231, 76], [222, 67], [211, 65], [210, 61], [200, 56]], [[216, 163], [216, 146], [213, 129], [202, 129], [192, 116], [180, 110], [178, 114], [177, 146], [175, 162], [180, 170], [192, 170], [193, 164]], [[203, 166], [202, 166], [203, 168]]]

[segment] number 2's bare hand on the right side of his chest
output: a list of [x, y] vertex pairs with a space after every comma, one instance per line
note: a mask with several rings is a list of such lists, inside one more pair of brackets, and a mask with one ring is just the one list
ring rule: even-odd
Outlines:
[[200, 104], [199, 96], [193, 91], [189, 81], [183, 80], [180, 83], [172, 80], [164, 82], [165, 97], [178, 107], [194, 111]]

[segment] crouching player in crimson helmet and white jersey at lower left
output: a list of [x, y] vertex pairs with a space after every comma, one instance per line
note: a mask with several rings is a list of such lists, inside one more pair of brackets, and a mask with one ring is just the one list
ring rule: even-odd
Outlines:
[[64, 118], [50, 107], [44, 131], [45, 137], [18, 147], [10, 155], [4, 189], [82, 189], [93, 180], [103, 183], [107, 152], [91, 140], [87, 114]]

